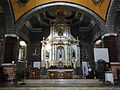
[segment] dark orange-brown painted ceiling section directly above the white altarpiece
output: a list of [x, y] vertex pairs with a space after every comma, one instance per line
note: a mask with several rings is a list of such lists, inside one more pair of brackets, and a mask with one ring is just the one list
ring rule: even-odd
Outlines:
[[49, 25], [54, 23], [72, 24], [73, 19], [76, 19], [76, 21], [77, 21], [77, 18], [78, 20], [80, 19], [80, 17], [78, 17], [80, 16], [79, 14], [80, 13], [76, 12], [75, 10], [73, 11], [73, 10], [67, 10], [67, 9], [48, 10], [44, 12], [44, 15], [46, 16], [46, 18], [49, 19], [51, 22], [49, 23]]

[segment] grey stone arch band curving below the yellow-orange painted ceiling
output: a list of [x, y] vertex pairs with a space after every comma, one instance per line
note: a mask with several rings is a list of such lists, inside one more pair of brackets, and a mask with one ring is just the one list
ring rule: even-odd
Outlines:
[[67, 2], [48, 3], [45, 5], [36, 7], [35, 9], [32, 9], [31, 11], [26, 13], [21, 19], [19, 19], [16, 22], [16, 30], [19, 31], [21, 29], [21, 27], [24, 25], [25, 21], [29, 20], [32, 17], [32, 15], [34, 15], [38, 12], [40, 13], [40, 12], [44, 11], [45, 9], [50, 9], [49, 7], [51, 7], [51, 9], [55, 9], [56, 6], [66, 6], [69, 8], [81, 10], [83, 13], [89, 15], [100, 26], [101, 30], [106, 30], [105, 22], [99, 16], [97, 16], [94, 12], [92, 12], [91, 10], [89, 10], [83, 6], [72, 4], [72, 3], [67, 3]]

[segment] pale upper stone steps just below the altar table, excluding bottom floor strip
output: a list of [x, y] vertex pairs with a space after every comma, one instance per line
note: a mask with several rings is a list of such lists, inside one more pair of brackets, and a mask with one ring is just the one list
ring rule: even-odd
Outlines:
[[[19, 84], [21, 82], [18, 82]], [[103, 82], [94, 79], [40, 79], [25, 80], [26, 87], [94, 87], [103, 86]]]

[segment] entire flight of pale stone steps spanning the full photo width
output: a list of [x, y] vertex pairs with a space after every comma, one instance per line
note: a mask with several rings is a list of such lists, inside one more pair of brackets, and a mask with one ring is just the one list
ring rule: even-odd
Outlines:
[[21, 83], [0, 87], [0, 90], [120, 90], [120, 87], [106, 86], [98, 79], [40, 79]]

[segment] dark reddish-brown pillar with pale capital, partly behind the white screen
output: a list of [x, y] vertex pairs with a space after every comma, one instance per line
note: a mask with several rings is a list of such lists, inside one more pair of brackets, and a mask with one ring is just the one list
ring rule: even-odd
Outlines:
[[108, 48], [110, 62], [118, 62], [117, 34], [108, 33], [102, 36], [103, 47]]

